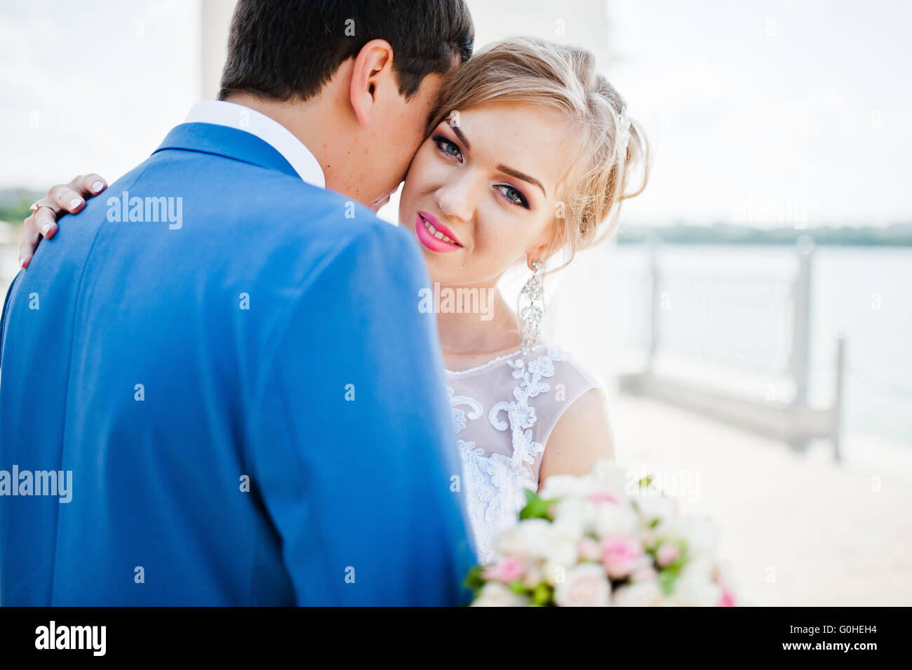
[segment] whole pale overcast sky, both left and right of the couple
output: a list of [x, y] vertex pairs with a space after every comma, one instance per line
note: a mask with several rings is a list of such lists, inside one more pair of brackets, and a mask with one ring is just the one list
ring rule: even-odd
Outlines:
[[[627, 217], [912, 221], [912, 3], [614, 0], [606, 48], [601, 0], [470, 5], [482, 41], [563, 20], [562, 38], [614, 57], [606, 74], [656, 149]], [[147, 157], [199, 98], [199, 14], [0, 0], [0, 188], [113, 180]]]

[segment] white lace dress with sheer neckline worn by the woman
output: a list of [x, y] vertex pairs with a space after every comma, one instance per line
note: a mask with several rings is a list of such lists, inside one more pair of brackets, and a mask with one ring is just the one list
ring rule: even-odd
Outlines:
[[538, 490], [544, 448], [557, 420], [598, 378], [557, 345], [534, 347], [483, 366], [447, 371], [453, 428], [479, 560], [496, 559], [494, 544]]

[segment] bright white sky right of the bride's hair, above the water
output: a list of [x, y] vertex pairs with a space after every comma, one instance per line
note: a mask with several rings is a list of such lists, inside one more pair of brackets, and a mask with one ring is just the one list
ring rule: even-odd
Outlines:
[[[631, 212], [912, 222], [912, 3], [612, 2], [608, 68], [656, 144]], [[759, 203], [759, 205], [757, 204]]]

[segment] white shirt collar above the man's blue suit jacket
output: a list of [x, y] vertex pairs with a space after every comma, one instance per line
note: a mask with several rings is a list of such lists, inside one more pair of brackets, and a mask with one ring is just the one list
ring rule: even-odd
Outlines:
[[265, 114], [233, 102], [206, 100], [193, 105], [184, 123], [212, 123], [249, 132], [282, 154], [302, 180], [326, 188], [326, 176], [310, 149], [291, 130]]

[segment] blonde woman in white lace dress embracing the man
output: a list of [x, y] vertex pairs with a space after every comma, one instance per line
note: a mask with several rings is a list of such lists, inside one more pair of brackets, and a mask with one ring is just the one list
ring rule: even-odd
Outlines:
[[[414, 232], [431, 281], [469, 289], [457, 296], [492, 296], [483, 318], [471, 305], [438, 310], [460, 484], [482, 562], [495, 558], [524, 490], [614, 456], [604, 387], [537, 336], [542, 286], [557, 253], [569, 263], [600, 230], [612, 232], [620, 202], [645, 187], [646, 160], [642, 133], [592, 55], [533, 38], [489, 46], [461, 67], [412, 159], [399, 221]], [[629, 191], [634, 173], [642, 183]], [[52, 189], [55, 209], [70, 209], [72, 189], [98, 195], [104, 185], [90, 177]], [[29, 225], [34, 217], [24, 241], [36, 233]], [[517, 263], [533, 272], [519, 314], [497, 288]]]

